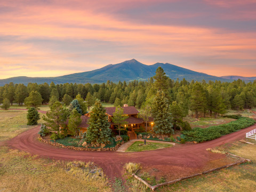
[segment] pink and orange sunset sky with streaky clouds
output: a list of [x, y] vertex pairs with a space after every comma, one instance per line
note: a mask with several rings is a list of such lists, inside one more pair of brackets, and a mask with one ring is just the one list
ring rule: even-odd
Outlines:
[[256, 0], [1, 0], [0, 79], [136, 59], [256, 76]]

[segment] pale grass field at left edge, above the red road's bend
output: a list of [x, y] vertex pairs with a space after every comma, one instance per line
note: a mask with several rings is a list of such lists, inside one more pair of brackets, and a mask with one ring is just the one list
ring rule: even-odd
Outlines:
[[[43, 123], [42, 116], [38, 124]], [[37, 125], [27, 125], [27, 111], [0, 110], [0, 141], [13, 138]]]

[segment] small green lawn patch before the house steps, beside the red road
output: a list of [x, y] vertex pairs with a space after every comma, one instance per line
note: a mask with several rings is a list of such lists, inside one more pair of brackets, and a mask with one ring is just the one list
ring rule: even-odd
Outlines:
[[[126, 151], [127, 152], [136, 152], [136, 151], [143, 151], [143, 150], [155, 150], [155, 149], [162, 149], [166, 147], [171, 147], [170, 144], [164, 144], [164, 143], [153, 143], [153, 142], [147, 142], [148, 145], [144, 145], [144, 142], [142, 141], [135, 141]], [[139, 146], [140, 144], [143, 144]]]

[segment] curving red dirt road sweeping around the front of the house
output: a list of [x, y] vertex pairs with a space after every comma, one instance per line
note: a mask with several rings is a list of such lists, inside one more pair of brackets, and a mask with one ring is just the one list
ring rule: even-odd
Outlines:
[[245, 137], [246, 132], [253, 129], [256, 129], [256, 125], [196, 145], [178, 145], [172, 148], [137, 153], [76, 151], [54, 147], [37, 140], [39, 126], [21, 133], [6, 143], [11, 148], [27, 151], [30, 154], [36, 154], [41, 157], [95, 162], [103, 168], [109, 177], [113, 178], [121, 177], [123, 164], [126, 162], [137, 162], [141, 163], [142, 166], [157, 167], [157, 169], [165, 172], [174, 173], [179, 170], [182, 172], [185, 170], [199, 172], [207, 162], [224, 157], [221, 154], [209, 153], [205, 149], [242, 139]]

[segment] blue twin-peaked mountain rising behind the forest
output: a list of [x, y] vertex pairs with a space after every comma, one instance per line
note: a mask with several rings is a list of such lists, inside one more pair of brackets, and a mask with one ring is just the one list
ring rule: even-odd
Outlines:
[[155, 71], [158, 67], [162, 67], [166, 73], [166, 76], [172, 79], [183, 79], [187, 81], [194, 79], [195, 81], [230, 81], [217, 76], [211, 76], [204, 73], [198, 73], [193, 70], [185, 69], [172, 65], [170, 63], [155, 63], [154, 65], [144, 65], [141, 62], [132, 59], [124, 61], [115, 65], [107, 65], [100, 69], [86, 71], [82, 73], [75, 73], [70, 75], [64, 75], [59, 77], [11, 77], [6, 79], [0, 79], [0, 86], [6, 83], [13, 82], [28, 84], [31, 83], [48, 83], [54, 82], [55, 84], [63, 83], [104, 83], [108, 80], [113, 82], [118, 81], [132, 81], [134, 79], [138, 81], [145, 81], [155, 75]]

